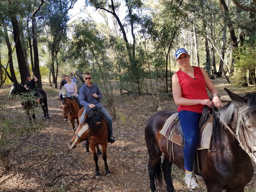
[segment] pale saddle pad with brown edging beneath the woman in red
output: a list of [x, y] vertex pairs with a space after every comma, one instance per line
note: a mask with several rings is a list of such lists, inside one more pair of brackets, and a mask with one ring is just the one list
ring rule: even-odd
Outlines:
[[[201, 131], [198, 136], [198, 148], [197, 150], [202, 150], [202, 149], [210, 149], [211, 145], [211, 137], [212, 137], [212, 116], [209, 118], [208, 122], [205, 124], [204, 128], [201, 128]], [[160, 130], [160, 134], [168, 138], [168, 140], [180, 145], [184, 146], [181, 144], [181, 137], [177, 130], [176, 130], [176, 122], [178, 122], [178, 113], [172, 114], [170, 116], [162, 130]]]

